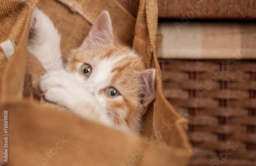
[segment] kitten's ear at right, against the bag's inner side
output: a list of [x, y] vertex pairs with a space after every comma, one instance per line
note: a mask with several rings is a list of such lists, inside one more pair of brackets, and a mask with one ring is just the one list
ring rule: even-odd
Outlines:
[[138, 77], [144, 89], [144, 94], [141, 101], [143, 106], [141, 115], [145, 114], [148, 104], [150, 104], [156, 98], [155, 75], [155, 69], [148, 69], [144, 70]]

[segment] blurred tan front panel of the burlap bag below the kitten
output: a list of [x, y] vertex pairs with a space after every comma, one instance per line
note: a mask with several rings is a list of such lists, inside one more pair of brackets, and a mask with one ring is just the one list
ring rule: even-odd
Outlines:
[[[164, 147], [26, 100], [5, 102], [0, 109], [10, 117], [6, 165], [186, 165], [190, 157], [182, 148]], [[47, 152], [54, 155], [48, 158]]]

